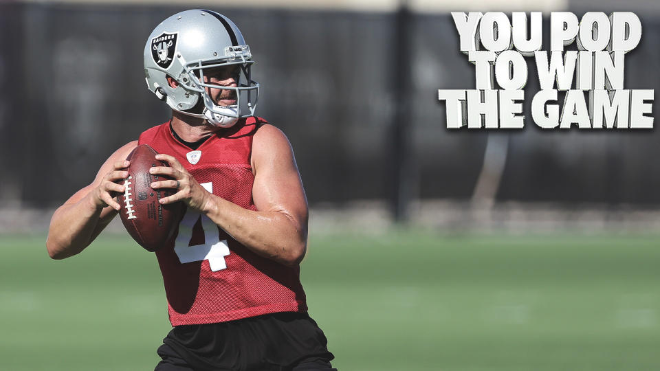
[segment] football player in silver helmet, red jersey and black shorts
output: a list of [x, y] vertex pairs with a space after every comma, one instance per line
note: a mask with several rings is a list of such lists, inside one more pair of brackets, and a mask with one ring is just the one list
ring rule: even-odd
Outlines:
[[160, 202], [186, 205], [155, 253], [173, 326], [158, 371], [335, 370], [300, 284], [305, 190], [287, 137], [254, 115], [252, 63], [238, 27], [217, 12], [186, 10], [157, 25], [144, 74], [171, 120], [116, 150], [52, 216], [48, 254], [74, 256], [118, 214], [113, 194], [124, 192], [133, 148], [148, 144], [170, 165], [151, 168], [170, 177], [152, 188], [175, 190]]

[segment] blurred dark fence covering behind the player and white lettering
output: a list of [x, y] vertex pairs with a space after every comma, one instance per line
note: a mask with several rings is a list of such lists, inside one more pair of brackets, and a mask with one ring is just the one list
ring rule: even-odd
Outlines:
[[[0, 3], [4, 205], [58, 205], [113, 150], [168, 120], [168, 107], [146, 89], [142, 50], [159, 21], [185, 8]], [[527, 117], [521, 131], [448, 131], [437, 89], [474, 87], [448, 13], [409, 14], [400, 65], [395, 12], [213, 10], [248, 41], [263, 87], [257, 113], [288, 135], [311, 205], [391, 196], [397, 105], [408, 120], [413, 199], [470, 199], [496, 135], [508, 142], [496, 201], [660, 203], [657, 130], [542, 131]], [[626, 54], [625, 87], [657, 89], [660, 19], [637, 14], [643, 34]], [[525, 112], [538, 89], [527, 60]]]

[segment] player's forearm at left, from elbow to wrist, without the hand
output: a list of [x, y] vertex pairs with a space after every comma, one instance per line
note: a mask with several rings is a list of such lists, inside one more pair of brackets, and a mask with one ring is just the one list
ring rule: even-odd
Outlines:
[[100, 219], [102, 211], [90, 194], [59, 207], [50, 221], [46, 239], [50, 257], [64, 259], [83, 251], [108, 223]]

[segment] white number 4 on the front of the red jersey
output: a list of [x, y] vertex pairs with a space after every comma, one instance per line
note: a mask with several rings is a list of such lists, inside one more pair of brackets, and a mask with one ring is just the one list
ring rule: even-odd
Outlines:
[[[213, 193], [211, 182], [201, 183], [203, 188]], [[192, 239], [192, 227], [201, 218], [201, 227], [204, 234], [203, 245], [190, 245]], [[184, 218], [179, 223], [179, 235], [174, 243], [174, 251], [179, 257], [181, 264], [187, 262], [198, 262], [208, 260], [211, 271], [221, 271], [227, 268], [225, 256], [230, 254], [227, 240], [220, 240], [218, 226], [208, 216], [197, 211], [187, 210]]]

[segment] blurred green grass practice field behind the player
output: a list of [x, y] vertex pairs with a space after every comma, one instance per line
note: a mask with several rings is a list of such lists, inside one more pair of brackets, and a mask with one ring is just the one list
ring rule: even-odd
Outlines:
[[[0, 369], [153, 370], [153, 254], [44, 240], [0, 237]], [[660, 236], [312, 236], [302, 280], [342, 371], [660, 370]]]

